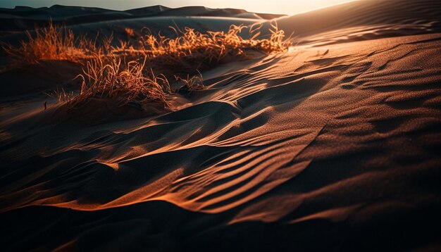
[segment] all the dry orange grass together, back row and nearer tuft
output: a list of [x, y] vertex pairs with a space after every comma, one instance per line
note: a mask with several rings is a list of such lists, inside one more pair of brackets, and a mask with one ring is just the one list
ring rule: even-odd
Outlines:
[[[212, 67], [225, 61], [237, 60], [254, 50], [262, 53], [285, 51], [290, 45], [282, 30], [271, 24], [267, 39], [257, 39], [261, 25], [231, 25], [228, 32], [198, 32], [190, 27], [180, 30], [170, 27], [175, 38], [167, 38], [150, 32], [138, 35], [126, 28], [130, 41], [119, 40], [113, 43], [113, 36], [104, 37], [97, 45], [97, 38], [88, 39], [85, 35], [75, 37], [66, 28], [49, 23], [48, 27], [35, 29], [34, 34], [26, 32], [27, 42], [19, 46], [2, 44], [2, 48], [15, 65], [35, 64], [45, 60], [63, 60], [82, 65], [80, 93], [56, 92], [59, 101], [70, 105], [91, 97], [113, 99], [123, 105], [132, 101], [144, 103], [158, 101], [168, 106], [166, 98], [170, 84], [166, 75], [175, 75], [183, 83], [176, 92], [191, 93], [201, 89], [204, 84], [201, 75], [189, 74]], [[240, 36], [242, 30], [249, 28], [249, 39]], [[135, 42], [134, 42], [135, 41]], [[152, 70], [154, 69], [154, 70]], [[164, 73], [164, 75], [160, 74]], [[186, 79], [180, 76], [187, 75]]]

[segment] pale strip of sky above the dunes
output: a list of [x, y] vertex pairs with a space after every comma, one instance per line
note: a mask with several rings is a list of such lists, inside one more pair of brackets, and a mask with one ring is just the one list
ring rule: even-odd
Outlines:
[[243, 8], [257, 13], [292, 15], [353, 0], [0, 0], [0, 8], [15, 6], [43, 7], [54, 4], [92, 6], [127, 10], [152, 5], [167, 7], [206, 6], [209, 8]]

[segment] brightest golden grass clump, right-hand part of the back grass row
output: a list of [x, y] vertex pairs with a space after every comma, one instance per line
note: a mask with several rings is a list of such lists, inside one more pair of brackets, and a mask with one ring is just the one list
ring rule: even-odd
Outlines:
[[[143, 55], [149, 58], [151, 65], [161, 65], [168, 68], [179, 66], [182, 68], [200, 69], [225, 60], [237, 60], [246, 55], [247, 50], [261, 51], [262, 53], [279, 53], [286, 51], [290, 46], [289, 39], [285, 39], [285, 33], [278, 30], [276, 23], [271, 23], [272, 29], [268, 39], [256, 39], [259, 37], [261, 25], [231, 25], [228, 32], [197, 32], [185, 27], [184, 30], [170, 27], [177, 37], [170, 39], [161, 36], [147, 34], [140, 37], [137, 46], [129, 46], [126, 42], [120, 42], [120, 46], [111, 49], [111, 53], [124, 56]], [[240, 32], [249, 28], [250, 39], [243, 39]], [[190, 69], [186, 69], [190, 70]]]

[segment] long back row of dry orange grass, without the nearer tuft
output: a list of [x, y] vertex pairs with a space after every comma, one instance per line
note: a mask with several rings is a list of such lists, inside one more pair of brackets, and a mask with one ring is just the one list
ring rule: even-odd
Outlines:
[[[271, 24], [271, 34], [268, 39], [256, 39], [261, 32], [261, 25], [231, 25], [228, 32], [206, 33], [185, 27], [170, 27], [177, 37], [170, 39], [148, 34], [139, 37], [134, 45], [130, 42], [119, 41], [118, 46], [111, 46], [113, 35], [104, 37], [101, 46], [96, 45], [96, 40], [87, 39], [84, 35], [75, 37], [72, 30], [53, 23], [42, 29], [36, 28], [32, 36], [27, 34], [27, 42], [20, 42], [18, 47], [11, 44], [2, 44], [6, 53], [18, 63], [37, 63], [42, 60], [66, 60], [82, 63], [85, 60], [106, 56], [147, 56], [149, 62], [161, 65], [174, 66], [182, 63], [213, 63], [223, 60], [227, 56], [241, 56], [244, 51], [252, 49], [263, 53], [278, 53], [285, 51], [290, 45], [289, 39], [285, 39], [282, 30], [278, 30], [277, 24]], [[250, 39], [243, 39], [240, 32], [249, 28]], [[148, 29], [145, 29], [148, 30]], [[125, 28], [128, 37], [135, 36], [135, 30]]]

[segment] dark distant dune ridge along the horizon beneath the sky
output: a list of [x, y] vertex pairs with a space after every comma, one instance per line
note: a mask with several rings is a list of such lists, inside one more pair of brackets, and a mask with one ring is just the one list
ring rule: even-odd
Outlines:
[[[33, 29], [47, 25], [51, 18], [54, 23], [65, 25], [78, 25], [83, 23], [97, 23], [110, 20], [125, 20], [133, 18], [154, 17], [182, 17], [206, 16], [251, 18], [269, 20], [282, 15], [266, 13], [250, 13], [235, 8], [206, 8], [204, 6], [187, 6], [181, 8], [168, 8], [166, 6], [149, 6], [127, 11], [113, 11], [104, 8], [85, 8], [80, 6], [54, 5], [49, 8], [16, 7], [14, 9], [0, 8], [0, 32], [13, 32], [23, 29]], [[170, 19], [170, 18], [168, 18]]]

